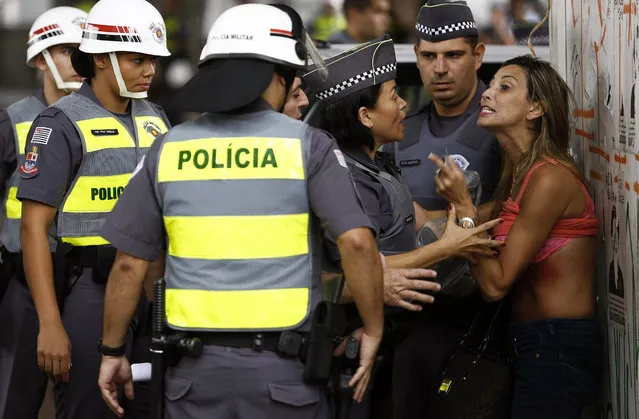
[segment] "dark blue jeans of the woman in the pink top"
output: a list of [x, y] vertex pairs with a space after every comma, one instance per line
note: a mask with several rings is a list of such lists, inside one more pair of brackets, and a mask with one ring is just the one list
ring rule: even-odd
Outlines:
[[595, 319], [510, 326], [515, 349], [512, 419], [579, 419], [598, 396], [603, 353]]

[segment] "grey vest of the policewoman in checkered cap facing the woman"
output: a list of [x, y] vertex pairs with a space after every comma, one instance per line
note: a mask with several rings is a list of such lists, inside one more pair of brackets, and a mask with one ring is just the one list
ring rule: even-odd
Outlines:
[[371, 170], [347, 153], [344, 153], [344, 157], [350, 165], [370, 173], [382, 184], [388, 194], [393, 223], [387, 230], [379, 232], [377, 237], [379, 251], [384, 255], [393, 255], [415, 250], [417, 247], [415, 208], [413, 207], [413, 197], [408, 187], [384, 170]]

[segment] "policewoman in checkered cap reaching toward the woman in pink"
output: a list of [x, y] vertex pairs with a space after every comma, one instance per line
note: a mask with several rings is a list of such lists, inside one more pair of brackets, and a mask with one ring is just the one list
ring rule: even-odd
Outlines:
[[[378, 231], [377, 245], [386, 256], [387, 265], [427, 267], [451, 256], [487, 249], [490, 241], [475, 235], [491, 228], [494, 222], [466, 230], [452, 222], [452, 212], [443, 237], [417, 248], [411, 193], [388, 155], [378, 151], [385, 144], [404, 139], [406, 102], [396, 92], [397, 63], [392, 39], [385, 35], [360, 44], [329, 58], [326, 64], [327, 79], [322, 80], [317, 71], [311, 71], [304, 75], [304, 81], [323, 106], [320, 126], [335, 136], [343, 152], [364, 209]], [[332, 262], [339, 262], [339, 254], [330, 253]], [[418, 284], [423, 288], [417, 288]], [[415, 281], [415, 288], [405, 297], [430, 303], [433, 298], [419, 291], [437, 289], [434, 282]], [[400, 307], [408, 307], [408, 303]], [[387, 310], [388, 315], [397, 312]], [[371, 400], [373, 403], [390, 396], [389, 383], [380, 384], [385, 390]], [[351, 417], [368, 418], [370, 412], [357, 407]]]

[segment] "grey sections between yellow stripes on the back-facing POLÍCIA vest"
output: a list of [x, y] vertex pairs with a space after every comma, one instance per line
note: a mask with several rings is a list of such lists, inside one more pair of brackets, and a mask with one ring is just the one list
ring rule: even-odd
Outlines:
[[[197, 259], [168, 255], [166, 264], [166, 288], [169, 290], [250, 291], [307, 288], [310, 292], [307, 314], [297, 325], [280, 329], [298, 328], [308, 318], [317, 296], [319, 255], [307, 193], [307, 164], [310, 142], [306, 139], [307, 126], [276, 112], [258, 112], [246, 115], [205, 115], [196, 121], [171, 129], [163, 140], [158, 153], [158, 168], [162, 151], [167, 144], [197, 139], [220, 139], [225, 147], [233, 144], [233, 138], [298, 138], [301, 140], [304, 179], [215, 179], [159, 181], [156, 179], [156, 195], [165, 217], [198, 216], [276, 216], [309, 214], [308, 253], [299, 256], [272, 258]], [[220, 162], [226, 162], [220, 158]], [[210, 164], [209, 164], [210, 166]], [[202, 170], [220, 170], [207, 167]], [[277, 241], [273, 237], [273, 242]], [[167, 238], [169, 247], [171, 237]], [[208, 243], [204, 242], [204, 246]], [[210, 243], [210, 246], [223, 246]], [[169, 309], [167, 305], [167, 310]], [[242, 309], [238, 307], [238, 310]], [[250, 307], [244, 310], [250, 316]], [[192, 327], [171, 324], [175, 329]], [[199, 330], [247, 330], [244, 328], [199, 328]]]

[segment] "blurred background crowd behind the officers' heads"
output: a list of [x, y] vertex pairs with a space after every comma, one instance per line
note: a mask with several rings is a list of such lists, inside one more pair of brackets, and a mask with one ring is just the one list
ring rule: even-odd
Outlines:
[[[160, 62], [150, 98], [172, 122], [183, 119], [171, 109], [172, 92], [196, 69], [206, 34], [225, 9], [272, 0], [149, 0], [163, 14], [171, 57]], [[359, 43], [387, 32], [396, 43], [412, 43], [419, 8], [425, 0], [279, 0], [294, 7], [313, 38], [330, 43]], [[526, 45], [531, 29], [546, 14], [546, 0], [467, 0], [481, 40], [491, 45]], [[89, 11], [92, 0], [0, 0], [0, 108], [38, 85], [37, 72], [24, 64], [26, 37], [33, 20], [54, 6]], [[535, 32], [534, 45], [548, 45], [547, 23]]]

